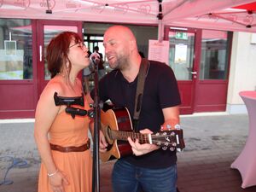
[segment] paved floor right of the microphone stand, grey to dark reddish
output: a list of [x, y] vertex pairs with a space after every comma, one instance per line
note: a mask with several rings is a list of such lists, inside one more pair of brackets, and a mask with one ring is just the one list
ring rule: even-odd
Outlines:
[[[186, 148], [178, 153], [180, 192], [256, 192], [241, 189], [241, 175], [230, 169], [247, 138], [246, 115], [182, 118]], [[101, 165], [101, 189], [112, 192], [113, 161]], [[255, 170], [256, 172], [256, 170]]]

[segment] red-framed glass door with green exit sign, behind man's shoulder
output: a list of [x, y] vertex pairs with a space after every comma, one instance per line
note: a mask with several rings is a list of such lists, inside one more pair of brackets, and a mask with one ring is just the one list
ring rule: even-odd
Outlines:
[[196, 66], [196, 31], [166, 28], [166, 40], [169, 41], [169, 66], [176, 76], [182, 100], [181, 113], [194, 112]]

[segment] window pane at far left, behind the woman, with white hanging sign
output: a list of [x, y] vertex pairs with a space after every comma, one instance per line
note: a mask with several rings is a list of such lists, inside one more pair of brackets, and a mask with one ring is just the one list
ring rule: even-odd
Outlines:
[[32, 79], [31, 20], [0, 19], [0, 80]]

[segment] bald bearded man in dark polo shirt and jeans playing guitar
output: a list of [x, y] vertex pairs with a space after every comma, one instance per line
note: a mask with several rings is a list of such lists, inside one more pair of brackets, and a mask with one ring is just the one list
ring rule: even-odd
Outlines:
[[[142, 62], [136, 38], [125, 26], [111, 26], [104, 34], [103, 44], [113, 71], [100, 81], [100, 99], [103, 102], [109, 99], [117, 107], [128, 108], [132, 118]], [[172, 69], [164, 63], [149, 61], [137, 130], [152, 133], [160, 131], [160, 125], [179, 124], [179, 104]], [[164, 151], [154, 144], [138, 143], [131, 138], [128, 141], [133, 154], [117, 160], [113, 166], [113, 191], [176, 192], [176, 151]], [[105, 151], [106, 146], [102, 139], [100, 151]]]

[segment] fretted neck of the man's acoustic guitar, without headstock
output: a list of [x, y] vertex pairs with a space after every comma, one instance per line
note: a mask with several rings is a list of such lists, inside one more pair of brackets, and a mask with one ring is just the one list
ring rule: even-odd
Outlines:
[[141, 134], [133, 131], [114, 131], [111, 130], [110, 137], [121, 141], [127, 141], [128, 137], [131, 137], [133, 141], [138, 139], [139, 143], [150, 143], [150, 134]]

